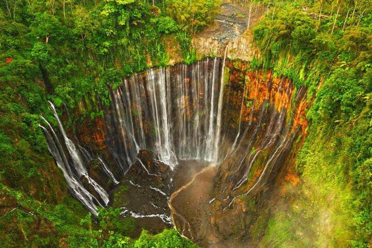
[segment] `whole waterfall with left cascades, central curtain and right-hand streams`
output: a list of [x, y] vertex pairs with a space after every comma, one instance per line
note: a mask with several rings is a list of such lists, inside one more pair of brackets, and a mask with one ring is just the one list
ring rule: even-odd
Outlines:
[[[153, 151], [156, 159], [171, 169], [180, 160], [213, 164], [228, 161], [225, 180], [230, 186], [225, 187], [222, 194], [233, 193], [233, 199], [267, 183], [270, 173], [289, 153], [294, 141], [294, 130], [286, 119], [287, 109], [276, 109], [284, 106], [286, 97], [290, 99], [292, 86], [287, 84], [284, 89], [283, 81], [280, 85], [277, 81], [274, 94], [269, 87], [271, 81], [259, 85], [257, 80], [255, 85], [249, 85], [249, 78], [246, 78], [244, 86], [237, 82], [225, 86], [227, 52], [226, 47], [223, 59], [206, 58], [191, 65], [150, 68], [123, 78], [116, 88], [109, 87], [110, 106], [100, 105], [105, 113], [102, 118], [105, 135], [100, 141], [105, 146], [102, 157], [83, 148], [88, 144], [83, 145], [79, 137], [73, 139], [77, 145], [68, 138], [50, 103], [58, 125], [54, 129], [41, 117], [48, 125], [48, 128], [41, 125], [48, 149], [63, 171], [71, 193], [87, 209], [97, 214], [97, 206], [109, 203], [105, 187], [99, 184], [102, 181], [88, 173], [89, 162], [98, 161], [103, 176], [118, 184], [135, 161], [141, 162], [137, 158], [141, 149]], [[248, 93], [253, 92], [256, 96], [250, 95], [252, 104], [246, 107]], [[298, 92], [305, 96], [304, 91]], [[259, 99], [257, 94], [264, 98]], [[279, 100], [275, 102], [270, 97]], [[232, 99], [231, 103], [228, 99]], [[232, 124], [235, 113], [238, 122]], [[232, 128], [234, 126], [236, 128]], [[106, 164], [105, 160], [110, 163]], [[260, 173], [252, 175], [251, 172], [257, 170], [257, 162], [260, 162]], [[149, 173], [142, 162], [141, 165]], [[250, 182], [248, 192], [241, 192], [245, 189], [241, 186], [247, 181]]]

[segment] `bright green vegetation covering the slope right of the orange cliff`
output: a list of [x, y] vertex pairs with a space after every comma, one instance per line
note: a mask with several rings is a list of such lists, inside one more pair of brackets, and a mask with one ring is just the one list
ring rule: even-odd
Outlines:
[[[296, 161], [304, 186], [292, 210], [270, 220], [264, 244], [371, 247], [371, 5], [295, 1], [275, 7], [253, 31], [261, 58], [252, 65], [307, 86], [312, 105]], [[312, 223], [315, 241], [301, 236], [308, 225], [301, 219]]]

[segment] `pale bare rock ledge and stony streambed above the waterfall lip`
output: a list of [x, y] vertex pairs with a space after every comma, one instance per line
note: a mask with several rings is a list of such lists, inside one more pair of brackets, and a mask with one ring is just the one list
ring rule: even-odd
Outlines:
[[[220, 11], [211, 25], [192, 36], [191, 43], [196, 58], [224, 57], [226, 47], [228, 48], [226, 57], [233, 60], [251, 61], [260, 58], [259, 49], [253, 42], [252, 31], [267, 13], [266, 6], [257, 4], [249, 13], [247, 7], [223, 3]], [[174, 38], [167, 38], [166, 52], [169, 56], [169, 65], [183, 61], [182, 51]], [[151, 67], [151, 63], [148, 63], [148, 66]]]

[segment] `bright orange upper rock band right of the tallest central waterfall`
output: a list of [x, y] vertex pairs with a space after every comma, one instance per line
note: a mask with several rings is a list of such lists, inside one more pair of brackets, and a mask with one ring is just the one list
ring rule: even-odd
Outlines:
[[[269, 104], [278, 112], [285, 108], [287, 113], [293, 115], [287, 118], [293, 120], [292, 131], [301, 125], [304, 134], [308, 125], [305, 109], [309, 107], [305, 88], [296, 89], [291, 80], [286, 77], [275, 77], [271, 70], [249, 71], [246, 62], [229, 61], [227, 66], [230, 68], [229, 85], [235, 88], [234, 93], [230, 95], [230, 100], [236, 109], [240, 109], [243, 96], [246, 98], [245, 102], [254, 102], [252, 104], [255, 111], [264, 100], [269, 100]], [[245, 90], [244, 84], [246, 84]], [[296, 96], [299, 99], [295, 99]], [[242, 109], [243, 120], [250, 120], [250, 112], [250, 106], [247, 107], [245, 104]]]

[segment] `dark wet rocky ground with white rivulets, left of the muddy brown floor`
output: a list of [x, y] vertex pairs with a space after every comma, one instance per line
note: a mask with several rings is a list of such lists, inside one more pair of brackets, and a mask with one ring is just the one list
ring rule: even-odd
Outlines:
[[112, 206], [122, 208], [122, 216], [136, 221], [135, 235], [142, 228], [158, 233], [171, 228], [168, 199], [171, 181], [167, 165], [155, 160], [153, 152], [141, 150], [118, 187], [111, 192]]

